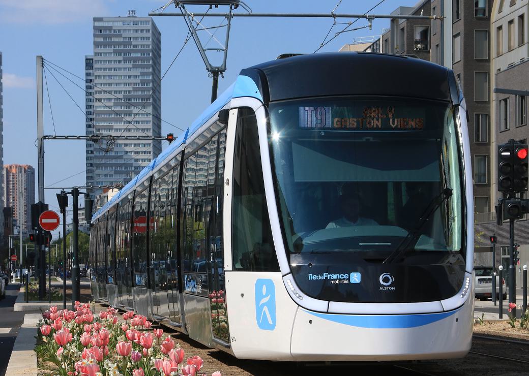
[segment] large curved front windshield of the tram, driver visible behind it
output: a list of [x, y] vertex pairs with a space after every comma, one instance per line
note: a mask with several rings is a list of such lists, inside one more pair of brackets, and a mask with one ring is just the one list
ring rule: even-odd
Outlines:
[[317, 98], [269, 106], [289, 255], [464, 259], [460, 152], [446, 102]]

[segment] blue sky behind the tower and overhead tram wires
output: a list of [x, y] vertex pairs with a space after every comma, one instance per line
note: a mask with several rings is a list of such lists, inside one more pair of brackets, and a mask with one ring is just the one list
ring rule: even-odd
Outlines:
[[[378, 2], [379, 0], [344, 0], [336, 13], [364, 13]], [[388, 14], [398, 6], [413, 6], [416, 2], [386, 0], [370, 13]], [[126, 16], [127, 10], [136, 10], [137, 16], [146, 16], [165, 3], [167, 0], [0, 0], [0, 51], [3, 53], [4, 73], [4, 164], [30, 164], [37, 173], [37, 148], [34, 144], [37, 137], [35, 56], [43, 55], [45, 59], [83, 77], [84, 56], [93, 52], [92, 17]], [[329, 13], [338, 0], [246, 0], [246, 3], [256, 13]], [[198, 8], [195, 10], [198, 11]], [[170, 6], [166, 11], [176, 10]], [[204, 20], [204, 24], [213, 26], [220, 21], [209, 18]], [[165, 72], [184, 43], [187, 27], [181, 17], [155, 17], [154, 22], [161, 32], [162, 72]], [[281, 53], [313, 52], [323, 41], [332, 23], [330, 18], [235, 18], [230, 34], [227, 71], [224, 78], [220, 79], [219, 92], [227, 88], [243, 68], [275, 59]], [[364, 25], [367, 25], [365, 20], [355, 23], [355, 26]], [[330, 36], [344, 26], [336, 25]], [[354, 37], [377, 35], [382, 28], [388, 26], [389, 20], [375, 20], [372, 30], [366, 28], [341, 34], [320, 52], [337, 51], [343, 44], [351, 43]], [[222, 33], [222, 30], [218, 32]], [[84, 109], [84, 92], [65, 79], [58, 78]], [[56, 133], [84, 134], [84, 115], [51, 76], [48, 76], [48, 83]], [[82, 81], [79, 83], [82, 84]], [[204, 63], [191, 40], [162, 81], [162, 118], [185, 129], [207, 107], [210, 98], [211, 79], [207, 77]], [[169, 132], [175, 135], [180, 133], [178, 129], [162, 123], [162, 134]], [[50, 106], [44, 88], [44, 134], [53, 133]], [[70, 187], [85, 184], [83, 141], [48, 140], [44, 147], [45, 186]], [[167, 147], [167, 143], [164, 142], [162, 147]], [[79, 174], [63, 180], [77, 173]], [[47, 190], [45, 195], [45, 201], [53, 210], [57, 209], [56, 193], [57, 191]], [[35, 196], [38, 196], [36, 187]]]

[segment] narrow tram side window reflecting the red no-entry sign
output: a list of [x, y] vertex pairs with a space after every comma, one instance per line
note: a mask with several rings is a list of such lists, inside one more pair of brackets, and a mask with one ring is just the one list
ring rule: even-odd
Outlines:
[[134, 203], [134, 284], [147, 286], [147, 198], [148, 190], [145, 189], [136, 195]]

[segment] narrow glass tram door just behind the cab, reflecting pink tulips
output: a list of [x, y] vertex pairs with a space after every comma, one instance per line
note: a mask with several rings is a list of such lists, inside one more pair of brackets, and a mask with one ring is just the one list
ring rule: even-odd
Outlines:
[[226, 130], [222, 130], [211, 142], [211, 151], [207, 168], [207, 272], [209, 304], [211, 306], [211, 330], [213, 337], [230, 342], [226, 315], [226, 296], [224, 281], [224, 257], [222, 241], [222, 203], [224, 150]]

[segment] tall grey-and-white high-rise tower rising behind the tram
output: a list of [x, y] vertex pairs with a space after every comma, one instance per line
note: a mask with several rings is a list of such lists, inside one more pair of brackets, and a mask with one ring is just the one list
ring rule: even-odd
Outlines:
[[[85, 57], [86, 134], [161, 135], [160, 31], [150, 17], [94, 18]], [[160, 140], [86, 143], [86, 183], [126, 184], [161, 152]], [[102, 189], [89, 190], [92, 198]]]

